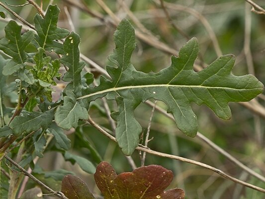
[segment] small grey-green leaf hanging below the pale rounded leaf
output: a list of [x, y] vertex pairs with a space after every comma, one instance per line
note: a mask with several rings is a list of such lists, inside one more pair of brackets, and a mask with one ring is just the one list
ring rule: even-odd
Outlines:
[[50, 125], [50, 127], [48, 128], [48, 131], [54, 135], [56, 142], [62, 149], [64, 150], [70, 149], [71, 147], [70, 139], [68, 139], [68, 137], [64, 133], [64, 130], [58, 127], [55, 122], [53, 122]]

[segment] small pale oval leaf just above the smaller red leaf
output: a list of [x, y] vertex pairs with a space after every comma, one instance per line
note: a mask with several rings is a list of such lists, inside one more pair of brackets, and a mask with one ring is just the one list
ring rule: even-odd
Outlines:
[[89, 160], [82, 158], [78, 155], [71, 154], [69, 152], [65, 152], [64, 157], [65, 160], [69, 160], [72, 164], [77, 163], [80, 168], [88, 174], [95, 173], [95, 167]]

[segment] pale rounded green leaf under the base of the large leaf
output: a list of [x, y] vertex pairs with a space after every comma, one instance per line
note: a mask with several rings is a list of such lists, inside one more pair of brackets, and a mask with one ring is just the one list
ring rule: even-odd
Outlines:
[[88, 111], [73, 97], [64, 97], [64, 105], [55, 113], [55, 122], [63, 129], [76, 128], [79, 119], [88, 119]]

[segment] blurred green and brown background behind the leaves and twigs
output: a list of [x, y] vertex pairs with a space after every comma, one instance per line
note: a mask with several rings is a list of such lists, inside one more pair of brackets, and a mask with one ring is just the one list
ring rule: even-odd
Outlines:
[[[25, 3], [25, 0], [1, 0], [8, 4], [18, 5]], [[98, 65], [105, 67], [107, 57], [114, 48], [113, 33], [115, 27], [111, 26], [109, 21], [111, 17], [101, 9], [97, 0], [73, 0], [76, 3], [84, 3], [90, 10], [101, 13], [106, 23], [98, 18], [90, 16], [88, 13], [69, 4], [66, 0], [43, 0], [45, 9], [49, 2], [56, 3], [61, 8], [59, 26], [71, 30], [67, 18], [65, 7], [68, 8], [73, 20], [75, 31], [81, 36], [81, 52], [93, 60]], [[164, 42], [169, 47], [179, 50], [187, 41], [187, 38], [180, 34], [172, 26], [165, 12], [162, 9], [160, 0], [122, 0], [143, 26], [152, 32], [158, 40]], [[104, 0], [106, 5], [116, 14], [118, 18], [128, 16], [128, 11], [121, 6], [120, 0]], [[40, 0], [36, 0], [40, 4]], [[207, 20], [208, 25], [216, 35], [217, 41], [223, 54], [234, 54], [236, 56], [236, 65], [233, 69], [235, 75], [245, 75], [255, 73], [256, 77], [265, 84], [265, 14], [250, 12], [251, 6], [244, 0], [165, 0], [176, 6], [185, 6], [196, 14], [187, 12], [184, 9], [175, 9], [173, 5], [166, 7], [174, 24], [188, 37], [197, 37], [200, 46], [200, 57], [197, 64], [206, 67], [218, 57], [213, 43], [210, 39], [209, 31], [205, 28], [202, 21]], [[256, 3], [265, 7], [264, 0], [256, 0]], [[82, 4], [82, 5], [84, 5]], [[36, 10], [31, 5], [23, 7], [11, 7], [22, 18], [33, 23], [33, 17]], [[192, 11], [193, 10], [193, 11]], [[0, 8], [0, 11], [6, 10]], [[9, 13], [7, 16], [14, 18]], [[244, 51], [248, 46], [246, 43], [246, 16], [251, 16], [251, 37], [250, 52], [253, 56], [254, 70], [248, 67]], [[132, 24], [136, 27], [136, 24]], [[4, 36], [4, 19], [0, 21], [0, 37]], [[137, 39], [137, 47], [132, 57], [132, 63], [137, 70], [143, 72], [158, 72], [170, 65], [171, 54]], [[89, 67], [89, 65], [88, 65]], [[99, 73], [92, 67], [90, 68], [94, 77], [99, 77]], [[60, 95], [60, 88], [55, 88]], [[10, 102], [12, 101], [10, 94]], [[55, 94], [56, 96], [56, 94]], [[265, 98], [262, 95], [257, 100], [264, 106]], [[116, 110], [116, 104], [109, 102], [111, 111]], [[158, 102], [158, 106], [167, 109], [166, 105]], [[89, 113], [92, 118], [107, 129], [111, 129], [106, 117], [105, 110], [102, 108], [102, 101], [96, 100], [91, 106]], [[228, 121], [219, 119], [206, 106], [198, 107], [194, 105], [194, 111], [199, 120], [199, 131], [228, 151], [231, 155], [237, 157], [240, 161], [255, 168], [261, 174], [265, 174], [265, 120], [254, 114], [252, 111], [240, 104], [230, 104], [232, 118]], [[143, 136], [145, 135], [151, 115], [152, 107], [141, 104], [135, 111], [137, 120], [143, 126]], [[72, 141], [72, 153], [90, 160], [97, 165], [101, 160], [110, 162], [118, 173], [131, 171], [131, 166], [127, 159], [122, 155], [118, 146], [109, 141], [108, 138], [100, 134], [96, 129], [87, 125], [80, 124], [73, 131], [66, 132]], [[206, 143], [198, 138], [189, 138], [183, 135], [175, 122], [155, 111], [151, 124], [148, 147], [164, 153], [174, 154], [186, 157], [192, 160], [200, 161], [220, 168], [225, 172], [240, 178], [243, 181], [249, 181], [257, 186], [265, 188], [265, 184], [255, 178], [251, 178], [239, 167], [232, 164], [223, 155], [211, 149]], [[92, 176], [84, 173], [79, 166], [72, 166], [66, 163], [63, 156], [57, 152], [56, 145], [51, 142], [47, 147], [44, 158], [39, 160], [37, 165], [44, 171], [53, 171], [65, 169], [74, 172], [76, 175], [87, 179], [91, 190], [99, 193], [93, 184]], [[133, 159], [137, 166], [140, 166], [139, 152], [135, 151]], [[174, 171], [175, 179], [171, 188], [178, 187], [185, 190], [186, 199], [264, 199], [265, 195], [253, 191], [249, 188], [238, 186], [228, 180], [222, 179], [211, 171], [182, 163], [176, 160], [161, 158], [147, 154], [146, 165], [158, 164]], [[36, 167], [35, 167], [36, 168]], [[56, 189], [60, 184], [54, 183], [54, 178], [49, 175], [45, 177], [39, 170], [35, 171], [39, 177], [46, 178], [50, 186]], [[52, 176], [52, 175], [51, 175]], [[60, 180], [60, 176], [57, 180]], [[28, 187], [31, 185], [28, 184]], [[57, 187], [56, 187], [57, 186]]]

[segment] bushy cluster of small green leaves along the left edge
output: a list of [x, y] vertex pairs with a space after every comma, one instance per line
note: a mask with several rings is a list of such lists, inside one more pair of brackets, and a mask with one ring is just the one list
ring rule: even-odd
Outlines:
[[[29, 30], [22, 33], [22, 26], [15, 21], [9, 21], [5, 26], [5, 37], [0, 40], [0, 50], [6, 55], [0, 55], [0, 138], [8, 139], [12, 135], [19, 140], [35, 131], [32, 138], [26, 141], [26, 153], [19, 163], [24, 167], [32, 163], [36, 156], [43, 157], [47, 138], [53, 135], [55, 140], [53, 150], [62, 152], [65, 160], [73, 164], [78, 163], [84, 171], [94, 173], [95, 167], [90, 161], [66, 152], [71, 147], [70, 139], [53, 121], [56, 108], [62, 101], [60, 102], [61, 99], [52, 101], [54, 91], [52, 86], [56, 86], [56, 79], [61, 79], [62, 74], [59, 73], [59, 69], [63, 65], [69, 69], [63, 80], [72, 82], [71, 74], [76, 63], [68, 57], [77, 56], [79, 60], [80, 43], [76, 33], [57, 27], [59, 12], [57, 5], [50, 5], [44, 18], [37, 14], [34, 17], [36, 32]], [[66, 41], [63, 42], [62, 39]], [[31, 52], [27, 52], [28, 50]], [[58, 56], [62, 58], [56, 59]], [[81, 81], [81, 70], [82, 68], [77, 74], [80, 79], [74, 77], [74, 87], [76, 82]], [[71, 83], [68, 88], [70, 87]], [[16, 110], [23, 109], [12, 121], [10, 118], [15, 108], [6, 107], [6, 103], [3, 102], [10, 97], [10, 93], [15, 95], [18, 93]], [[60, 108], [61, 106], [58, 107]], [[16, 152], [14, 150], [14, 154]], [[34, 167], [34, 164], [31, 166]], [[63, 178], [62, 176], [57, 178], [56, 175], [51, 177], [54, 180]]]

